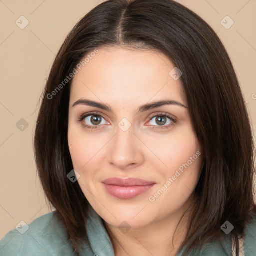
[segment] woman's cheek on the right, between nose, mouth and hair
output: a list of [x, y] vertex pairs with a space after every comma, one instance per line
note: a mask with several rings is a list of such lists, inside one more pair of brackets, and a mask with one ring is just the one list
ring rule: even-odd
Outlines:
[[[151, 193], [154, 197], [151, 201], [157, 198], [158, 203], [167, 203], [173, 207], [181, 205], [189, 198], [198, 182], [202, 164], [200, 144], [192, 128], [186, 126], [158, 140], [154, 150], [165, 167], [155, 166], [161, 178], [159, 186]], [[154, 196], [153, 193], [157, 194]]]

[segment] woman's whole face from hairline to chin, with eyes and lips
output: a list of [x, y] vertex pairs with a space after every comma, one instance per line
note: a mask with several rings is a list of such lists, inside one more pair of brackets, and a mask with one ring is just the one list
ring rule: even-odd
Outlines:
[[[192, 198], [202, 152], [174, 67], [158, 51], [108, 47], [73, 78], [73, 167], [84, 196], [110, 225], [164, 221]], [[166, 102], [152, 104], [158, 101]]]

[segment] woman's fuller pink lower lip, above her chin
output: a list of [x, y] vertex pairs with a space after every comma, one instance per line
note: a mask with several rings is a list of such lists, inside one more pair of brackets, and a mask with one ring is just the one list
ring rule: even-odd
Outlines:
[[142, 186], [117, 186], [117, 185], [107, 185], [103, 184], [107, 192], [120, 199], [131, 199], [134, 198], [149, 189], [151, 189], [154, 184], [142, 185]]

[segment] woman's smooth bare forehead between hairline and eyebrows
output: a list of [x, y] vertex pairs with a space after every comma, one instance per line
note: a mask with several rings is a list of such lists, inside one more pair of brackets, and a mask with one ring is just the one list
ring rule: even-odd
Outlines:
[[77, 69], [70, 103], [90, 98], [109, 104], [140, 104], [150, 99], [174, 99], [186, 104], [180, 79], [169, 75], [174, 67], [167, 56], [156, 50], [99, 48], [81, 70]]

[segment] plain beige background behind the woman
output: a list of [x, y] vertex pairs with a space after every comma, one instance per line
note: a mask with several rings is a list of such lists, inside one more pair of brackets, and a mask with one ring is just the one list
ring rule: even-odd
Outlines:
[[[205, 19], [222, 40], [238, 75], [255, 131], [256, 0], [177, 1]], [[28, 224], [50, 211], [32, 149], [37, 103], [65, 36], [100, 2], [0, 0], [0, 238], [21, 220]], [[24, 29], [15, 23], [20, 22], [22, 15], [29, 21]], [[234, 21], [229, 29], [220, 23], [226, 15]], [[224, 22], [231, 24], [230, 20]]]

